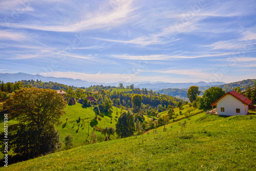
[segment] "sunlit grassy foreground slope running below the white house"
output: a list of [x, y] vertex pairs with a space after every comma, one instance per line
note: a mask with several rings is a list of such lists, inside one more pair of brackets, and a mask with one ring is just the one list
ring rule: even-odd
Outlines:
[[167, 132], [159, 127], [158, 134], [80, 146], [0, 170], [256, 170], [256, 115], [201, 113], [184, 121], [183, 129], [170, 123]]

